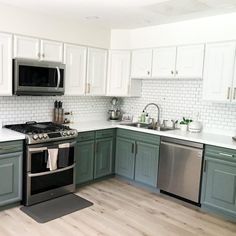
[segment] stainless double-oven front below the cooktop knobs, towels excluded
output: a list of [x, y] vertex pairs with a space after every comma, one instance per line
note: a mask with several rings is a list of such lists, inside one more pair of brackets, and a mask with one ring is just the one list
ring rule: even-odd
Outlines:
[[[75, 191], [75, 144], [74, 141], [55, 142], [27, 147], [26, 205]], [[58, 148], [58, 168], [53, 171], [47, 168], [48, 149], [51, 148]]]

